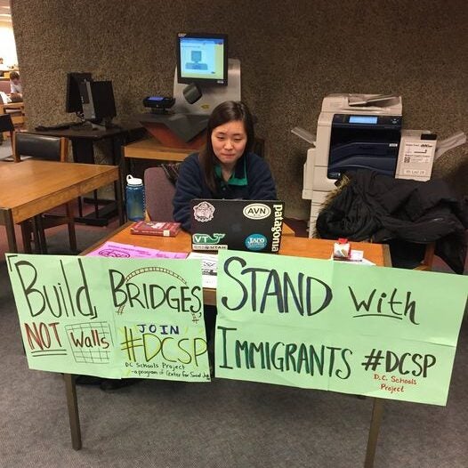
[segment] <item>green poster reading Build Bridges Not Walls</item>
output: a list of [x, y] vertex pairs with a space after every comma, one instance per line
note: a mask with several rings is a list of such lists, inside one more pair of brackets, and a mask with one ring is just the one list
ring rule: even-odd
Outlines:
[[28, 366], [210, 380], [198, 260], [8, 254]]

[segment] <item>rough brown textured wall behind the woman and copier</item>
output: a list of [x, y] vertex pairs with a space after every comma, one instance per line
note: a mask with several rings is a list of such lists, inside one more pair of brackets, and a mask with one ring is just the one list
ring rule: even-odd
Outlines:
[[[242, 96], [258, 117], [288, 215], [308, 218], [301, 199], [307, 144], [327, 93], [400, 93], [404, 126], [441, 137], [468, 132], [464, 0], [151, 1], [13, 0], [12, 18], [30, 125], [63, 113], [67, 71], [113, 81], [120, 121], [150, 93], [172, 93], [174, 36], [226, 32], [242, 65]], [[441, 158], [466, 191], [466, 149]]]

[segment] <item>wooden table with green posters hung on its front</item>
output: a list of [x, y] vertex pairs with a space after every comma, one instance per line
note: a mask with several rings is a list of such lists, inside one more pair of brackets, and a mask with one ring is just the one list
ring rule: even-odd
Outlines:
[[[130, 226], [133, 223], [128, 222], [125, 226], [116, 230], [108, 238], [105, 238], [86, 249], [83, 254], [91, 252], [98, 246], [108, 240], [112, 242], [120, 242], [123, 244], [131, 244], [133, 246], [143, 246], [166, 250], [169, 252], [190, 252], [190, 234], [180, 232], [175, 238], [164, 238], [158, 236], [136, 236], [131, 234]], [[315, 239], [315, 238], [295, 238], [292, 236], [282, 236], [281, 246], [279, 249], [280, 255], [292, 255], [297, 257], [328, 259], [333, 252], [334, 240]], [[362, 250], [364, 257], [374, 262], [377, 266], [391, 266], [391, 256], [389, 246], [383, 244], [369, 244], [367, 242], [351, 242], [351, 248]], [[262, 254], [259, 254], [262, 255]], [[359, 269], [359, 267], [356, 267]], [[204, 303], [216, 304], [216, 290], [204, 288], [203, 291]], [[72, 447], [79, 450], [82, 447], [81, 429], [79, 424], [79, 414], [77, 406], [77, 388], [74, 375], [65, 374], [65, 387], [67, 395], [67, 404], [69, 407], [69, 424], [71, 432]], [[375, 449], [380, 430], [380, 424], [383, 418], [383, 399], [374, 399], [374, 407], [369, 426], [367, 450], [365, 459], [365, 468], [374, 466]]]

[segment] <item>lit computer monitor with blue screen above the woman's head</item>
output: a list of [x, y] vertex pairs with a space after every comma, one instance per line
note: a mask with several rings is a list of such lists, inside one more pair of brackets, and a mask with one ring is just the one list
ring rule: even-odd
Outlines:
[[190, 85], [228, 85], [228, 36], [179, 33], [177, 81]]

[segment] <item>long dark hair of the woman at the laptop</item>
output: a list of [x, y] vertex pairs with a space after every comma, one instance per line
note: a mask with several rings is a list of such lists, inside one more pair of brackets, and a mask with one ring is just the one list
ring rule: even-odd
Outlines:
[[[246, 130], [247, 142], [244, 155], [254, 146], [254, 121], [250, 110], [246, 104], [241, 101], [224, 101], [216, 106], [208, 119], [206, 126], [206, 146], [200, 151], [200, 165], [205, 174], [205, 181], [208, 188], [216, 191], [216, 182], [214, 179], [214, 165], [217, 157], [214, 155], [213, 145], [211, 143], [211, 134], [217, 126], [239, 120], [243, 122]], [[242, 156], [244, 156], [242, 155]]]

